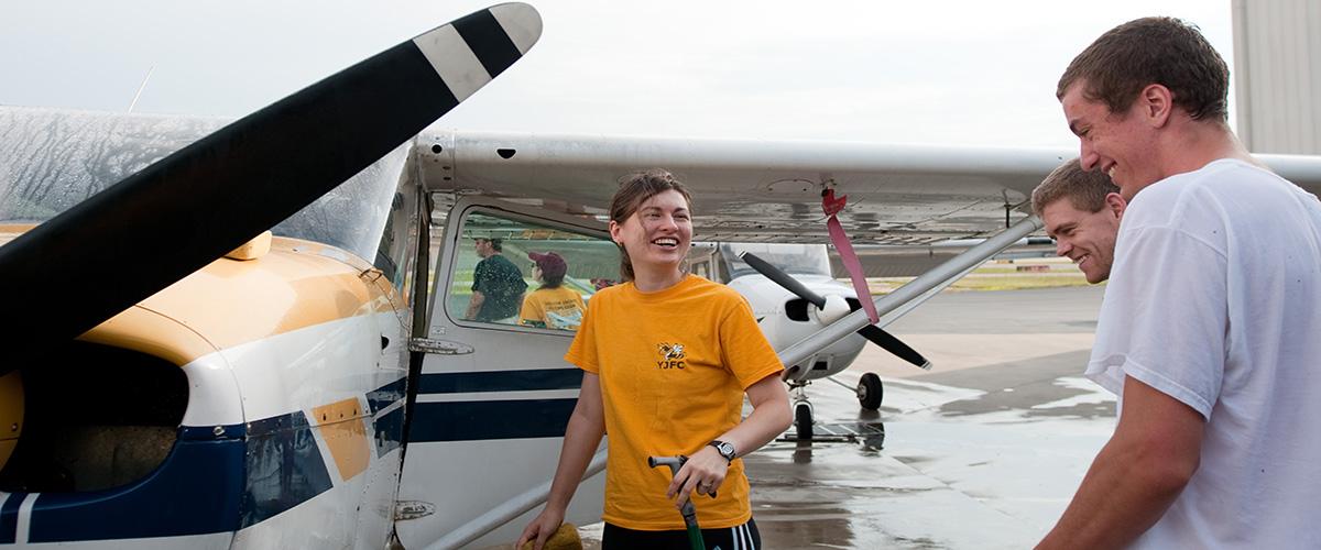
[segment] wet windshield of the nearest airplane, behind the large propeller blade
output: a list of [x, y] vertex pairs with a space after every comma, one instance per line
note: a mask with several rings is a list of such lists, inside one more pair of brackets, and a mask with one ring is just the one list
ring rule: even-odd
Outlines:
[[[0, 112], [0, 224], [37, 224], [219, 129], [221, 119]], [[34, 161], [37, 160], [37, 161]], [[400, 146], [271, 231], [373, 261], [406, 160]]]

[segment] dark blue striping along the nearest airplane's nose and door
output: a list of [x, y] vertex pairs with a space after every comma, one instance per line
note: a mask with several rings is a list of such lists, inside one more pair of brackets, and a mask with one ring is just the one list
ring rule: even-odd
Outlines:
[[[493, 376], [494, 375], [494, 376]], [[506, 371], [428, 375], [433, 390], [495, 392], [569, 389], [581, 371]], [[490, 376], [489, 380], [482, 380]], [[523, 379], [523, 380], [518, 380]], [[376, 431], [376, 456], [399, 447], [403, 408], [400, 379], [367, 394]], [[468, 441], [561, 437], [576, 400], [417, 404], [415, 441]], [[147, 477], [95, 492], [41, 493], [32, 510], [29, 542], [180, 537], [235, 532], [332, 488], [325, 458], [303, 412], [247, 425], [181, 426], [174, 447]], [[12, 543], [26, 493], [0, 506], [0, 543]]]

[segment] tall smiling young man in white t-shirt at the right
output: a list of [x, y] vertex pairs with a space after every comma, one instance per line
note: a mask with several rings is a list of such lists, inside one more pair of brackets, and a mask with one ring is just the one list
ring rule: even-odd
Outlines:
[[1041, 547], [1321, 547], [1321, 203], [1226, 123], [1196, 26], [1131, 21], [1057, 95], [1129, 200], [1087, 376], [1119, 425]]

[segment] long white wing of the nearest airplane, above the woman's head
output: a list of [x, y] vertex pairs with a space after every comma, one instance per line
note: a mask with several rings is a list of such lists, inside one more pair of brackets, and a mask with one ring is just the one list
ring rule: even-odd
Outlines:
[[[417, 140], [432, 191], [524, 198], [602, 215], [620, 177], [672, 171], [694, 191], [694, 240], [827, 243], [820, 194], [856, 244], [976, 239], [1017, 222], [1032, 190], [1075, 149], [952, 148], [823, 141], [547, 136], [428, 131]], [[1321, 191], [1321, 157], [1259, 156]], [[553, 197], [553, 200], [534, 199]]]

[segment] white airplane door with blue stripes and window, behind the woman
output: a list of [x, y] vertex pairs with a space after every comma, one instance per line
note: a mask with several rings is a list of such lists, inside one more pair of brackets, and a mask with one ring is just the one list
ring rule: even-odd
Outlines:
[[[551, 264], [550, 277], [534, 278], [528, 255], [547, 252], [564, 264], [557, 286]], [[428, 353], [399, 485], [395, 529], [406, 547], [551, 480], [583, 379], [564, 361], [581, 315], [565, 297], [585, 303], [620, 274], [600, 222], [485, 198], [454, 204], [439, 256], [429, 331], [415, 346]], [[478, 293], [482, 305], [470, 310]], [[524, 302], [540, 307], [523, 315]], [[604, 475], [583, 481], [565, 521], [600, 521], [604, 487]], [[538, 512], [469, 546], [511, 543]]]

